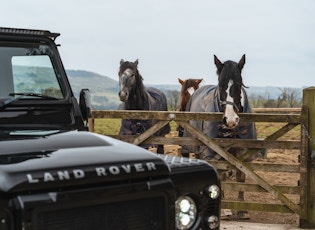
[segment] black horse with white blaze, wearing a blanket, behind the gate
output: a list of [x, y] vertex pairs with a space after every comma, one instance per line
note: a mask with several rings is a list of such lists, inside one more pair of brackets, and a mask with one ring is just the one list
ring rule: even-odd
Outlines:
[[[242, 80], [242, 69], [245, 65], [245, 54], [239, 62], [225, 61], [221, 62], [214, 55], [214, 64], [217, 68], [218, 85], [205, 85], [197, 89], [191, 96], [186, 110], [190, 112], [222, 112], [221, 121], [189, 121], [190, 125], [200, 130], [206, 136], [211, 138], [241, 138], [256, 139], [256, 127], [253, 122], [241, 122], [239, 113], [252, 112], [246, 95]], [[184, 136], [190, 136], [184, 131]], [[207, 146], [189, 148], [182, 147], [182, 154], [195, 152], [198, 158], [204, 160], [222, 160], [212, 149]], [[241, 148], [226, 149], [235, 157], [239, 157], [244, 150]], [[188, 153], [189, 154], [189, 153]], [[224, 159], [223, 159], [224, 160]], [[245, 161], [253, 160], [252, 158]], [[226, 180], [226, 173], [221, 174], [221, 180]], [[235, 179], [237, 182], [245, 182], [245, 174], [240, 170], [236, 170]], [[224, 194], [222, 192], [222, 197]], [[238, 200], [244, 201], [244, 192], [240, 191]], [[239, 211], [238, 216], [242, 218], [246, 212]]]

